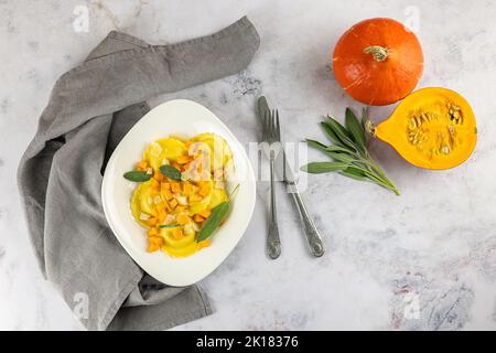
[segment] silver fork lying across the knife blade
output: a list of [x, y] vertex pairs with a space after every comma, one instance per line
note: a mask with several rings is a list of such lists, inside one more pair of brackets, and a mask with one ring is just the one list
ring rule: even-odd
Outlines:
[[267, 143], [263, 151], [270, 162], [270, 213], [269, 233], [267, 235], [267, 253], [274, 259], [281, 255], [281, 240], [279, 238], [278, 217], [276, 210], [274, 162], [280, 151], [279, 114], [272, 110], [263, 115], [262, 141]]

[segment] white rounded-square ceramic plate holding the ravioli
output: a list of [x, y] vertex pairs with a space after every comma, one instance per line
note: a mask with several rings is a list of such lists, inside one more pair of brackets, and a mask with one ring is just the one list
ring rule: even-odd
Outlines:
[[[212, 245], [185, 258], [163, 252], [147, 253], [147, 232], [132, 217], [130, 199], [136, 183], [122, 178], [141, 160], [145, 146], [169, 135], [193, 137], [215, 132], [226, 139], [234, 156], [234, 180], [239, 189], [224, 225]], [[248, 156], [230, 130], [207, 108], [187, 99], [170, 100], [143, 116], [110, 157], [101, 185], [105, 215], [116, 237], [149, 275], [170, 286], [187, 286], [208, 276], [224, 261], [245, 233], [255, 207], [256, 182]]]

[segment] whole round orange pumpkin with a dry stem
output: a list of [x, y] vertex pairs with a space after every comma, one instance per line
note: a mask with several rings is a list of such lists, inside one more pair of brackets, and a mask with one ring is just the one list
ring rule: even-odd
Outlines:
[[369, 19], [352, 26], [333, 53], [337, 83], [354, 99], [384, 106], [410, 94], [423, 71], [417, 36], [392, 19]]

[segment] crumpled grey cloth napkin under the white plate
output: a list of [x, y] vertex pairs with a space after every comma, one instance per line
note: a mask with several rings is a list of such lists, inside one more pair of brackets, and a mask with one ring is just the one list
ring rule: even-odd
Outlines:
[[147, 98], [235, 74], [259, 42], [246, 17], [172, 45], [110, 32], [56, 82], [18, 183], [43, 275], [88, 330], [161, 330], [212, 312], [201, 288], [164, 286], [128, 256], [105, 220], [103, 172]]

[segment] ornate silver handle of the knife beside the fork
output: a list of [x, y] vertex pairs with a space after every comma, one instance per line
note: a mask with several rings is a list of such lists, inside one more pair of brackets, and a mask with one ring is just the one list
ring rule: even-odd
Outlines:
[[312, 253], [315, 257], [321, 257], [324, 255], [324, 244], [322, 242], [322, 236], [319, 233], [319, 229], [316, 228], [315, 224], [313, 223], [312, 217], [309, 214], [309, 211], [306, 210], [305, 203], [303, 199], [300, 195], [300, 192], [298, 191], [298, 186], [295, 182], [288, 183], [288, 186], [290, 186], [290, 193], [292, 196], [292, 200], [294, 202], [294, 205], [296, 206], [300, 220], [303, 224], [303, 229], [306, 237], [306, 243], [310, 248], [310, 253]]

